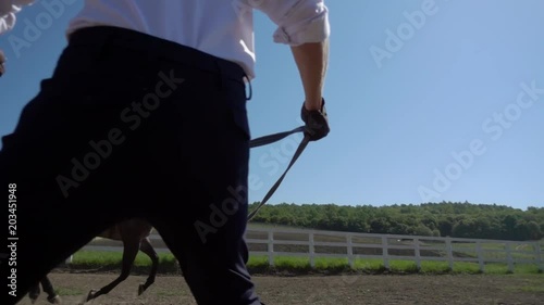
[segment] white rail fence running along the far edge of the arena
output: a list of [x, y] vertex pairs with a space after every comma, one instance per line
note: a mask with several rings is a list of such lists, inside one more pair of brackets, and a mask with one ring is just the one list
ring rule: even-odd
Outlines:
[[[159, 234], [151, 234], [158, 253], [170, 252]], [[353, 267], [360, 259], [381, 259], [386, 269], [392, 260], [412, 260], [418, 269], [425, 260], [469, 262], [484, 271], [487, 263], [506, 264], [514, 271], [517, 264], [534, 264], [544, 271], [544, 243], [536, 241], [504, 241], [394, 234], [351, 233], [320, 230], [248, 228], [246, 241], [251, 256], [267, 256], [274, 265], [275, 257], [307, 257], [316, 265], [319, 257], [347, 258]], [[82, 250], [123, 251], [119, 241], [95, 239]]]

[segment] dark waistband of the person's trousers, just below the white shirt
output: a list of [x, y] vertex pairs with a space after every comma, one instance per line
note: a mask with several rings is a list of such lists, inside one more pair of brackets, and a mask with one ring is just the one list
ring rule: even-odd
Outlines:
[[249, 79], [242, 66], [234, 62], [127, 28], [113, 26], [85, 27], [72, 33], [69, 42], [70, 45], [118, 46], [145, 52], [149, 60], [168, 60], [202, 71], [221, 73], [227, 78], [243, 84], [244, 77]]

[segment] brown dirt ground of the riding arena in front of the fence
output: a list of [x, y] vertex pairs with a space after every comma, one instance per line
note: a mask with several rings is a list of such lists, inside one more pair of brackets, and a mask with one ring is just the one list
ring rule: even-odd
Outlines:
[[[50, 279], [62, 304], [81, 304], [90, 289], [110, 282], [114, 274], [61, 274]], [[529, 276], [305, 276], [255, 277], [268, 305], [287, 304], [544, 304], [544, 275]], [[158, 276], [143, 295], [137, 287], [145, 276], [131, 276], [109, 295], [86, 304], [196, 304], [181, 276]], [[28, 297], [20, 302], [30, 305]], [[42, 293], [36, 305], [49, 304]]]

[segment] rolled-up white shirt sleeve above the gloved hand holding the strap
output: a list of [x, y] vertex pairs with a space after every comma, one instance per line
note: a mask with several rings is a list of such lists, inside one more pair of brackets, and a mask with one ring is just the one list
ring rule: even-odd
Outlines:
[[323, 0], [247, 0], [277, 25], [274, 42], [299, 46], [321, 42], [331, 35], [329, 9]]

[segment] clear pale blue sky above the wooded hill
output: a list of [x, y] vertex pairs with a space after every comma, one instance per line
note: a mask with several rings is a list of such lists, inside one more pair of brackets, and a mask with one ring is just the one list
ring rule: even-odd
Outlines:
[[[70, 1], [65, 1], [70, 2]], [[331, 58], [324, 97], [331, 134], [312, 142], [271, 203], [342, 205], [465, 202], [544, 206], [544, 2], [327, 1]], [[42, 5], [0, 37], [0, 135], [51, 75], [82, 2], [65, 4], [34, 41]], [[289, 49], [256, 13], [252, 137], [300, 125], [304, 101]], [[13, 39], [13, 38], [12, 38]], [[250, 201], [275, 182], [300, 140], [251, 151]]]

